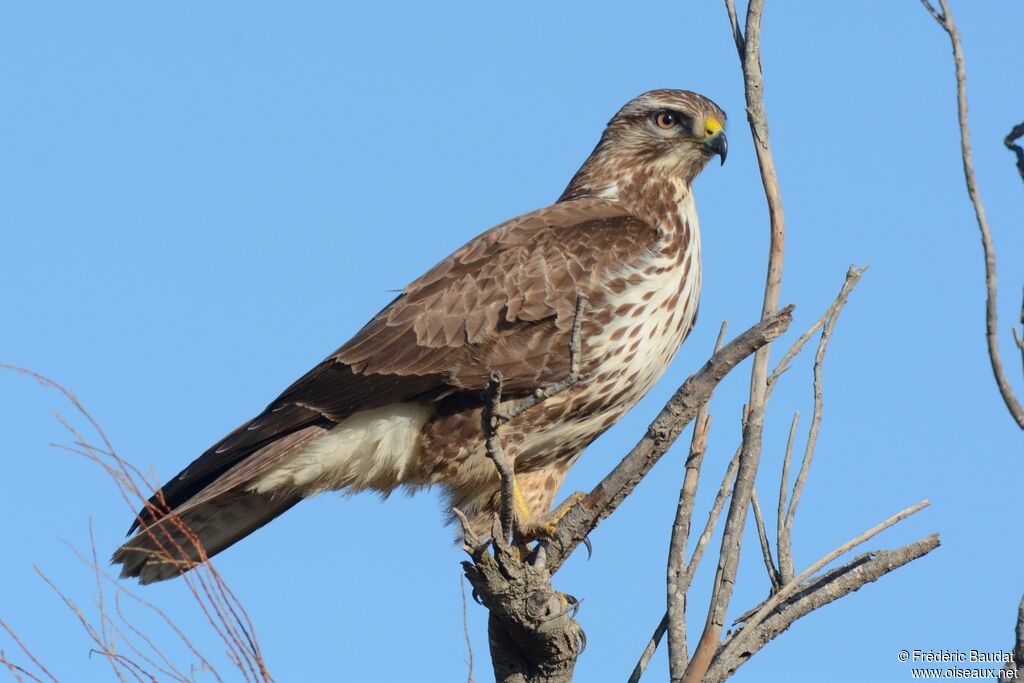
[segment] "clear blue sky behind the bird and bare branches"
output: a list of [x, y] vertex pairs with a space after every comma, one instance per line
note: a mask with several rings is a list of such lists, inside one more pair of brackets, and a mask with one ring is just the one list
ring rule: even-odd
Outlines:
[[[760, 310], [767, 218], [719, 2], [166, 5], [0, 10], [0, 359], [66, 384], [120, 453], [166, 479], [332, 351], [468, 238], [561, 191], [627, 99], [682, 87], [731, 115], [728, 163], [696, 184], [700, 321], [662, 382], [572, 470], [589, 489], [705, 359], [722, 319]], [[983, 271], [964, 189], [946, 36], [904, 2], [769, 3], [763, 63], [787, 218], [795, 330], [870, 264], [824, 369], [825, 413], [795, 529], [798, 570], [924, 498], [873, 540], [942, 547], [802, 620], [736, 681], [905, 681], [899, 649], [1005, 649], [1024, 560], [1024, 447], [983, 338]], [[975, 162], [998, 249], [1001, 342], [1024, 283], [1024, 185], [1001, 138], [1024, 118], [1017, 2], [954, 0]], [[775, 357], [779, 350], [775, 351]], [[744, 372], [712, 405], [710, 505], [738, 437]], [[0, 374], [0, 617], [67, 681], [105, 681], [38, 563], [83, 605], [94, 585], [61, 540], [105, 555], [130, 511], [68, 439], [57, 396]], [[798, 362], [768, 412], [759, 477], [774, 509]], [[579, 680], [622, 681], [664, 611], [677, 447], [556, 586], [586, 598]], [[328, 495], [218, 558], [280, 681], [465, 677], [461, 560], [436, 493]], [[709, 558], [710, 560], [711, 558]], [[702, 621], [713, 562], [698, 572]], [[749, 539], [730, 608], [767, 580]], [[188, 629], [180, 582], [144, 589]], [[469, 605], [477, 680], [485, 612]], [[207, 649], [216, 643], [207, 641]], [[13, 646], [0, 639], [8, 654]], [[664, 651], [648, 673], [664, 680]]]

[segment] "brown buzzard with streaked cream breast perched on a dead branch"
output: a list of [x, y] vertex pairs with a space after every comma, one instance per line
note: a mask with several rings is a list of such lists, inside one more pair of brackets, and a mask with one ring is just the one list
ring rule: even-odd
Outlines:
[[724, 125], [717, 104], [686, 90], [627, 102], [557, 202], [440, 261], [164, 484], [114, 554], [121, 575], [180, 574], [326, 490], [437, 484], [485, 536], [500, 482], [481, 389], [492, 371], [510, 400], [564, 378], [582, 295], [579, 381], [501, 428], [521, 513], [555, 514], [568, 468], [651, 388], [693, 327], [691, 185], [713, 157], [725, 162]]

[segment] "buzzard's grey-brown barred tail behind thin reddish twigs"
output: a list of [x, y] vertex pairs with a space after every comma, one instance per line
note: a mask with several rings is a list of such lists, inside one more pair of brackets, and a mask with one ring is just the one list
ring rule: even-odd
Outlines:
[[[295, 494], [254, 494], [236, 488], [171, 513], [146, 526], [112, 558], [121, 577], [152, 584], [173, 579], [249, 536], [298, 503]], [[202, 552], [200, 548], [202, 547]]]

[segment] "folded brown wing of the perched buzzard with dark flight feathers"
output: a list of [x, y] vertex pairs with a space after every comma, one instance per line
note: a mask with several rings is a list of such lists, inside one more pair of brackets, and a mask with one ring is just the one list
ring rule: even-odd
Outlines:
[[654, 228], [599, 199], [555, 204], [487, 230], [165, 484], [161, 507], [251, 480], [293, 450], [278, 441], [330, 429], [360, 410], [459, 392], [472, 401], [490, 370], [503, 373], [510, 396], [561, 379], [577, 295], [592, 294], [596, 280], [641, 257], [655, 238]]

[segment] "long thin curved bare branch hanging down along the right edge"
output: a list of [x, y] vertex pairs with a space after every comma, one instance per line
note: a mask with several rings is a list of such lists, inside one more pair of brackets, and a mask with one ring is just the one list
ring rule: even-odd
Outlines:
[[942, 30], [948, 34], [949, 42], [952, 44], [953, 62], [956, 73], [956, 117], [959, 121], [964, 178], [967, 181], [967, 194], [971, 198], [971, 204], [974, 205], [974, 214], [978, 220], [978, 229], [981, 231], [981, 247], [985, 255], [985, 290], [988, 293], [985, 302], [985, 339], [988, 342], [988, 357], [992, 365], [992, 375], [995, 377], [995, 384], [999, 388], [1002, 400], [1007, 404], [1010, 415], [1017, 422], [1017, 425], [1021, 429], [1024, 429], [1024, 407], [1021, 405], [1017, 396], [1014, 395], [1014, 391], [1010, 386], [1010, 380], [1007, 379], [1006, 372], [1002, 369], [1002, 358], [999, 355], [998, 307], [995, 304], [995, 246], [992, 244], [992, 233], [988, 228], [988, 218], [985, 217], [985, 207], [981, 202], [981, 193], [978, 190], [978, 181], [974, 174], [974, 161], [971, 157], [971, 131], [968, 128], [967, 119], [967, 69], [964, 66], [964, 48], [961, 46], [959, 32], [956, 30], [956, 24], [953, 22], [952, 13], [949, 11], [947, 0], [939, 0], [939, 5], [942, 7], [941, 13], [935, 9], [930, 0], [921, 0], [921, 2], [938, 25], [942, 27]]

